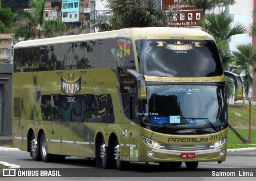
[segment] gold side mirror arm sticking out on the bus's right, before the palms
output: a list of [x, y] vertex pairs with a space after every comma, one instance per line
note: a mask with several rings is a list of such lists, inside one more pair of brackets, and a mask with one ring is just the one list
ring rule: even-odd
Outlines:
[[243, 99], [243, 86], [242, 86], [241, 77], [233, 72], [227, 72], [227, 71], [224, 71], [224, 75], [231, 78], [234, 81], [235, 95], [236, 95], [235, 99], [242, 100]]

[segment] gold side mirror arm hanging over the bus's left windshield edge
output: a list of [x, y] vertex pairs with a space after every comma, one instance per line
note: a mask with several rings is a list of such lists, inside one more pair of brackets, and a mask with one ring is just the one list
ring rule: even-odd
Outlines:
[[144, 75], [140, 74], [136, 70], [127, 70], [137, 81], [138, 98], [140, 100], [147, 99], [146, 81]]

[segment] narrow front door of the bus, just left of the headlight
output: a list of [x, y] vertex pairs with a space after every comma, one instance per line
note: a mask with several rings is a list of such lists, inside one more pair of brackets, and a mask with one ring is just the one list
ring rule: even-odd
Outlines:
[[130, 161], [138, 161], [139, 157], [139, 125], [138, 125], [138, 95], [129, 94], [129, 141]]

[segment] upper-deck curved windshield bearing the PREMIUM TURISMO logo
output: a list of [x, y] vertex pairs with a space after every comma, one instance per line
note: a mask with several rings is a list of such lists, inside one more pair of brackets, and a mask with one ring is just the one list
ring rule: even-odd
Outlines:
[[221, 76], [223, 69], [214, 41], [136, 40], [140, 73], [161, 77]]

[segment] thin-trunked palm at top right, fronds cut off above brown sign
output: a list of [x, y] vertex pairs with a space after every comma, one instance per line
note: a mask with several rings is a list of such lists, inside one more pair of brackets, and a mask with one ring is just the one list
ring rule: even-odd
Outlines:
[[182, 0], [183, 3], [186, 3], [190, 6], [194, 6], [199, 10], [203, 10], [203, 20], [202, 28], [205, 27], [205, 12], [206, 10], [212, 10], [215, 6], [226, 6], [234, 5], [235, 0]]

